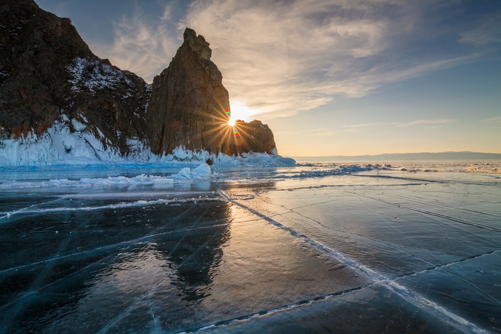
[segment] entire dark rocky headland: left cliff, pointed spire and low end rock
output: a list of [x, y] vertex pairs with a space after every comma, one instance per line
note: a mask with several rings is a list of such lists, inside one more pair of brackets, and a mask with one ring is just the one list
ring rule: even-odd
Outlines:
[[63, 122], [71, 133], [101, 142], [97, 147], [85, 139], [98, 158], [108, 149], [128, 156], [131, 141], [160, 156], [182, 146], [214, 155], [275, 153], [268, 126], [228, 126], [228, 92], [210, 56], [205, 39], [187, 28], [169, 67], [150, 86], [95, 56], [69, 19], [33, 0], [3, 0], [0, 140], [40, 136]]

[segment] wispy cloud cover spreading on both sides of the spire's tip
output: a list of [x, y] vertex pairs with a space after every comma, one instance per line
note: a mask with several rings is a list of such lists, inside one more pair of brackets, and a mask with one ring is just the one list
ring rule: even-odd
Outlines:
[[232, 105], [264, 120], [473, 62], [486, 43], [472, 41], [497, 27], [498, 15], [443, 24], [454, 21], [455, 0], [195, 0], [181, 17], [176, 4], [167, 3], [156, 21], [140, 9], [122, 17], [111, 48], [93, 47], [151, 82], [190, 27], [210, 43]]

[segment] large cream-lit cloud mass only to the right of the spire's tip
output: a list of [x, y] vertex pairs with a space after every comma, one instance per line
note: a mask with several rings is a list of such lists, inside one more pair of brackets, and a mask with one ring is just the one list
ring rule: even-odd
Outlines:
[[430, 12], [453, 3], [196, 0], [179, 27], [211, 43], [230, 100], [266, 119], [474, 61], [478, 51], [437, 52], [423, 43], [450, 33]]

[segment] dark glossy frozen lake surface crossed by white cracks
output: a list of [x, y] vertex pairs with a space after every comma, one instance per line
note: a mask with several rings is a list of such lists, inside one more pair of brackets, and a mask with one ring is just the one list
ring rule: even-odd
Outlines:
[[501, 332], [499, 174], [180, 170], [0, 171], [0, 331]]

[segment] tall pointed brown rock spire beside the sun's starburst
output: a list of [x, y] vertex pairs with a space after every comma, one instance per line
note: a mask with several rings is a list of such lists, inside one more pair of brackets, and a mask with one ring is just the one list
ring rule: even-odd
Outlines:
[[170, 152], [178, 145], [230, 152], [229, 140], [218, 138], [216, 131], [227, 124], [229, 98], [211, 53], [205, 39], [187, 28], [169, 67], [153, 79], [146, 113], [147, 123], [158, 125], [148, 128], [153, 153]]

